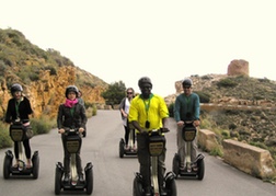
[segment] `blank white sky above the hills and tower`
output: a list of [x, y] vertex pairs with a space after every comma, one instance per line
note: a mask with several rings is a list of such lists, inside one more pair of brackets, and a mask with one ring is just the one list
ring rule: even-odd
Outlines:
[[0, 28], [54, 48], [107, 83], [175, 93], [191, 74], [227, 73], [233, 59], [250, 76], [276, 80], [275, 0], [0, 0]]

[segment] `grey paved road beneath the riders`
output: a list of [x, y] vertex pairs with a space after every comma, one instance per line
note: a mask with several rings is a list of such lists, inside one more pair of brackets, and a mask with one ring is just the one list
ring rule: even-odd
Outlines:
[[[82, 164], [92, 161], [94, 168], [93, 196], [131, 196], [134, 173], [138, 171], [137, 158], [118, 157], [118, 142], [124, 129], [118, 111], [97, 111], [88, 122], [89, 132], [83, 138]], [[166, 134], [166, 168], [172, 170], [176, 150], [175, 124], [170, 120], [171, 132]], [[41, 170], [37, 180], [2, 177], [4, 150], [0, 150], [0, 195], [49, 196], [55, 195], [55, 163], [62, 160], [62, 147], [57, 129], [32, 139], [32, 150], [39, 151]], [[221, 160], [205, 154], [205, 177], [176, 180], [179, 196], [275, 196], [276, 186], [244, 174]], [[64, 194], [64, 195], [71, 195]], [[73, 194], [72, 194], [73, 195]], [[77, 194], [81, 195], [81, 194]], [[82, 194], [85, 195], [85, 194]]]

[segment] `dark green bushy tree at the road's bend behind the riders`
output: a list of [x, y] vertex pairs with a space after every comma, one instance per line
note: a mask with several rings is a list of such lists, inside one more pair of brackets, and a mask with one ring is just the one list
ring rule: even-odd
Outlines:
[[111, 83], [106, 91], [102, 92], [101, 94], [106, 105], [119, 104], [122, 99], [126, 95], [126, 85], [123, 81]]

